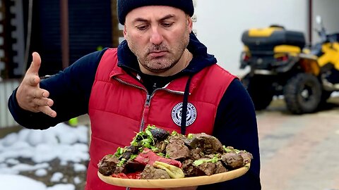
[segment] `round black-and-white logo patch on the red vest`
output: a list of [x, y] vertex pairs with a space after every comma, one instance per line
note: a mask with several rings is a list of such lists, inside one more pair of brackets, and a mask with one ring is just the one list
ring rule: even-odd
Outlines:
[[[172, 109], [172, 120], [179, 127], [182, 124], [182, 103], [178, 103]], [[192, 103], [187, 103], [186, 127], [196, 120], [196, 107]]]

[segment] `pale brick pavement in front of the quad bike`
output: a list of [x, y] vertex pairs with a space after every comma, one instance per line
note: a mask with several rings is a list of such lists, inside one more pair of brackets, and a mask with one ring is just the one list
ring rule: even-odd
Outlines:
[[339, 190], [339, 101], [304, 115], [281, 102], [257, 113], [262, 189]]

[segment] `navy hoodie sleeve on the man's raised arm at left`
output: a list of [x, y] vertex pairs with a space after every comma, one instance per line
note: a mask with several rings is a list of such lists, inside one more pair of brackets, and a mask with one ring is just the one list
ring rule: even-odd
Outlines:
[[47, 129], [59, 122], [88, 113], [88, 101], [97, 65], [105, 50], [83, 56], [65, 70], [40, 82], [40, 88], [49, 91], [49, 98], [54, 101], [52, 109], [57, 112], [56, 118], [20, 108], [16, 100], [16, 89], [8, 99], [8, 109], [14, 120], [29, 129]]

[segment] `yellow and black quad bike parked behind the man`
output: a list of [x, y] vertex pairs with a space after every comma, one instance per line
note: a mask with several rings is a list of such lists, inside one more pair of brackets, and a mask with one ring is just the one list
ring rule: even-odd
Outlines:
[[339, 33], [327, 34], [321, 18], [317, 22], [321, 41], [310, 48], [302, 32], [279, 25], [242, 34], [240, 68], [250, 68], [242, 82], [256, 110], [283, 95], [291, 113], [312, 113], [339, 91]]

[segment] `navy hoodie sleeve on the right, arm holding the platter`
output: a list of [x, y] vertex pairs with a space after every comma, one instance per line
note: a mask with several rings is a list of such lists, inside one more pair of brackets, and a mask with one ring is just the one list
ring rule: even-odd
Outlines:
[[254, 159], [251, 160], [249, 171], [242, 177], [199, 186], [198, 189], [261, 189], [256, 113], [249, 94], [237, 79], [232, 81], [220, 101], [213, 136], [220, 139], [225, 146], [248, 151]]

